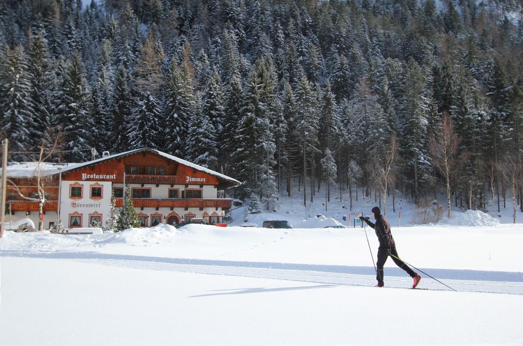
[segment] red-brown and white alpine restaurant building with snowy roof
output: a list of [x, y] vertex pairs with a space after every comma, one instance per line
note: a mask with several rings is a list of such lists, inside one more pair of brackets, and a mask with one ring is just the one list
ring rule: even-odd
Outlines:
[[[38, 223], [38, 163], [7, 166], [7, 221], [30, 218]], [[130, 187], [135, 211], [143, 226], [176, 224], [191, 218], [221, 223], [232, 200], [218, 198], [218, 192], [238, 186], [237, 180], [179, 159], [164, 152], [142, 148], [76, 164], [40, 165], [46, 199], [43, 226], [50, 228], [58, 217], [64, 228], [105, 224], [115, 194], [116, 208], [123, 204], [124, 186]], [[13, 184], [14, 183], [14, 184]], [[10, 186], [10, 187], [9, 187]], [[59, 197], [60, 195], [60, 197]]]

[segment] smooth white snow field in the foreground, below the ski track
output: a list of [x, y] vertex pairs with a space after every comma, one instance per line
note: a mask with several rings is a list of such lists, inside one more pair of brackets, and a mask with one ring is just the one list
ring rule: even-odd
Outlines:
[[[2, 257], [9, 345], [521, 344], [520, 295]], [[38, 270], [35, 270], [38, 268]]]

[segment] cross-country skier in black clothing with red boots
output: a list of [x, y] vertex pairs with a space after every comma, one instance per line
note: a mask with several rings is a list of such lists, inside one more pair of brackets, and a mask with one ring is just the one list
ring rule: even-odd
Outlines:
[[376, 219], [375, 224], [362, 216], [360, 216], [360, 220], [362, 222], [365, 221], [369, 226], [371, 226], [374, 229], [374, 231], [376, 231], [376, 235], [378, 236], [378, 240], [380, 241], [380, 246], [378, 247], [378, 261], [376, 263], [376, 266], [378, 267], [378, 272], [376, 273], [376, 279], [378, 280], [378, 284], [374, 287], [383, 287], [383, 266], [385, 265], [387, 257], [391, 256], [394, 263], [401, 269], [405, 270], [408, 273], [408, 275], [410, 275], [411, 278], [414, 279], [412, 288], [416, 288], [419, 281], [421, 281], [422, 277], [420, 277], [418, 273], [416, 273], [409, 266], [403, 263], [402, 260], [399, 259], [400, 256], [398, 256], [397, 254], [396, 244], [394, 243], [394, 238], [392, 238], [391, 225], [389, 223], [389, 220], [387, 220], [381, 214], [381, 210], [379, 207], [372, 208], [372, 217]]

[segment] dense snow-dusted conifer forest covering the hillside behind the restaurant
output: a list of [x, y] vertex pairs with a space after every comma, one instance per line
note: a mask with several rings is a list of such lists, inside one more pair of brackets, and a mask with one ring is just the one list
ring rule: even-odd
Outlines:
[[[150, 147], [243, 182], [523, 211], [515, 0], [3, 0], [10, 161]], [[360, 190], [361, 191], [361, 190]], [[324, 192], [322, 190], [322, 192]]]

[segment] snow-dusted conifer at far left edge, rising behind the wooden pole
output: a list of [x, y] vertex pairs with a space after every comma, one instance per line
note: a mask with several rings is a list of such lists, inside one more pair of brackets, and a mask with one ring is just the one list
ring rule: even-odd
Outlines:
[[[11, 151], [27, 151], [32, 142], [26, 125], [33, 113], [31, 85], [27, 59], [22, 46], [13, 50], [4, 46], [0, 56], [0, 133], [9, 139]], [[15, 154], [15, 160], [27, 160], [25, 154]]]

